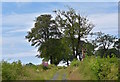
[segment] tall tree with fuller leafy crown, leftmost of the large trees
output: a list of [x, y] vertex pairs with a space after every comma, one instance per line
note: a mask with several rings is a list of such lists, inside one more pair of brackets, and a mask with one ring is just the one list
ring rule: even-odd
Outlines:
[[[60, 38], [60, 36], [61, 36], [61, 33], [57, 28], [55, 20], [52, 19], [51, 15], [45, 14], [45, 15], [40, 15], [36, 18], [34, 27], [31, 29], [31, 31], [28, 32], [26, 39], [28, 39], [28, 41], [31, 42], [32, 46], [35, 46], [38, 48], [39, 54], [37, 55], [37, 57], [48, 58], [50, 59], [52, 64], [53, 55], [51, 55], [51, 53], [46, 54], [43, 52], [45, 49], [46, 50], [50, 49], [48, 48], [49, 46], [52, 45], [52, 44], [51, 45], [49, 44], [50, 39], [57, 39], [57, 38]], [[44, 48], [42, 48], [43, 46]]]

